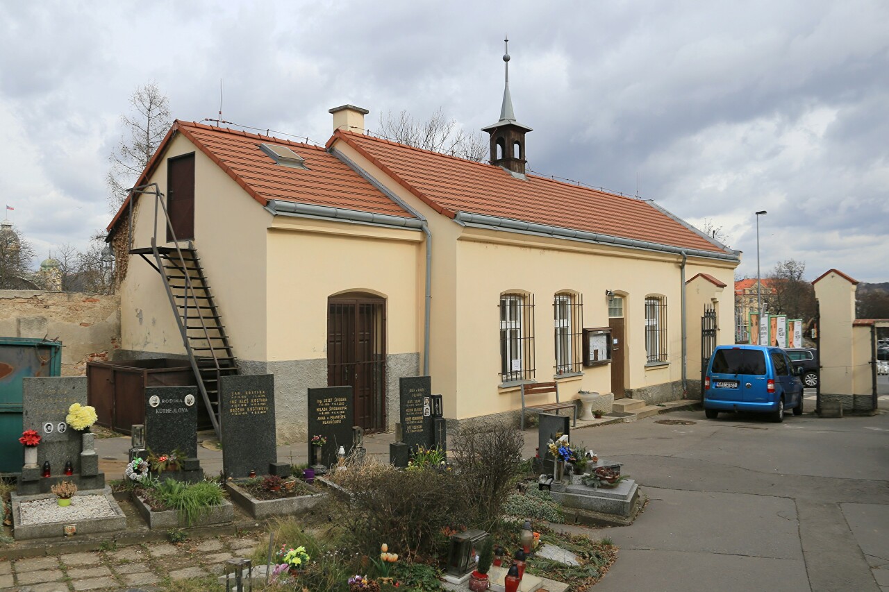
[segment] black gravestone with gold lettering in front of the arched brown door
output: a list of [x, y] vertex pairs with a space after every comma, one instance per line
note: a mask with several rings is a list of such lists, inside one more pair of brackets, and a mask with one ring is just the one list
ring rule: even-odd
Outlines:
[[324, 436], [327, 444], [321, 449], [321, 464], [336, 465], [336, 452], [342, 446], [346, 454], [352, 450], [352, 427], [355, 423], [351, 387], [308, 389], [308, 462], [313, 462], [312, 436]]

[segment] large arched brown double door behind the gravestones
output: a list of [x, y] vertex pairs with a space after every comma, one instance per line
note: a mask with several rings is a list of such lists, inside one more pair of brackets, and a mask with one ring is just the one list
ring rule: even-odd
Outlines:
[[386, 428], [386, 301], [332, 298], [327, 304], [327, 385], [350, 386], [355, 425]]

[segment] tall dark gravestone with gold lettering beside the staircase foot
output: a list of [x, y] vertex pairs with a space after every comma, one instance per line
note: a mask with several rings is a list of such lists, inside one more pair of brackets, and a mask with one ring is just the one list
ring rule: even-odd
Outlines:
[[283, 470], [276, 465], [275, 376], [222, 376], [220, 401], [225, 475], [239, 479], [252, 470], [257, 475]]

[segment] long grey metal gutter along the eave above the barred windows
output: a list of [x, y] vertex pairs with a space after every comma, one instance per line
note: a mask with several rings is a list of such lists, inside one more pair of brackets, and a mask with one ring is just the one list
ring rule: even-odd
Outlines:
[[596, 232], [587, 232], [585, 230], [573, 230], [572, 228], [562, 228], [551, 226], [549, 224], [536, 224], [533, 222], [523, 222], [522, 220], [512, 220], [509, 218], [500, 218], [497, 216], [487, 216], [485, 214], [457, 212], [454, 216], [462, 226], [473, 228], [488, 228], [493, 230], [510, 230], [513, 232], [521, 232], [524, 234], [535, 236], [554, 236], [557, 238], [568, 238], [582, 243], [607, 244], [612, 246], [621, 246], [628, 249], [639, 249], [642, 251], [669, 252], [677, 255], [703, 257], [706, 259], [718, 259], [725, 261], [741, 261], [739, 257], [740, 251], [732, 252], [713, 252], [701, 251], [701, 249], [686, 249], [684, 247], [672, 246], [670, 244], [652, 243], [650, 241], [640, 241], [633, 238], [623, 238], [621, 236], [602, 235]]

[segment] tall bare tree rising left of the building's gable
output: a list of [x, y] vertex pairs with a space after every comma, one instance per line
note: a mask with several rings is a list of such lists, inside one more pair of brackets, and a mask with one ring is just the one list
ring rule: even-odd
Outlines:
[[108, 196], [111, 212], [120, 209], [126, 199], [125, 189], [131, 188], [139, 179], [172, 123], [170, 102], [153, 82], [137, 88], [130, 97], [130, 104], [132, 109], [129, 115], [120, 117], [124, 135], [108, 156], [111, 170], [108, 171], [106, 183], [111, 191]]

